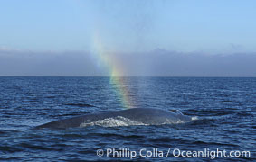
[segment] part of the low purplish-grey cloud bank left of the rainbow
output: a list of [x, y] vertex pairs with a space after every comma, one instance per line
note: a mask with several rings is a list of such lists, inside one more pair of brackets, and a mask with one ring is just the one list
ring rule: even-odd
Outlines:
[[0, 51], [0, 76], [95, 76], [93, 62], [81, 52]]

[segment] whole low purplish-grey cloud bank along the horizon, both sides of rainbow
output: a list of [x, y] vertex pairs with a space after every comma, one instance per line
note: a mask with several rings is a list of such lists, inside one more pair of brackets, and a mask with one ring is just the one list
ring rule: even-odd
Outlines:
[[[91, 55], [0, 49], [0, 76], [108, 76], [108, 67], [99, 67]], [[256, 76], [256, 53], [206, 55], [156, 49], [111, 57], [124, 76]]]

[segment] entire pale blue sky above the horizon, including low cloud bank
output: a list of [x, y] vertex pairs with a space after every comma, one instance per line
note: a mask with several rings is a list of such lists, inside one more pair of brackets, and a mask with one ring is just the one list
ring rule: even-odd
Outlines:
[[0, 0], [0, 76], [256, 76], [255, 6]]

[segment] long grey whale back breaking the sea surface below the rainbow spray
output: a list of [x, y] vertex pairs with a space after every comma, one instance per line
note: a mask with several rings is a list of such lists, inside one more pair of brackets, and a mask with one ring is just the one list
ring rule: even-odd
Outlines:
[[102, 124], [108, 125], [108, 123], [113, 123], [111, 120], [116, 120], [114, 123], [116, 123], [117, 120], [121, 121], [121, 123], [127, 123], [123, 125], [162, 125], [185, 123], [192, 121], [192, 118], [182, 114], [181, 112], [171, 112], [151, 108], [133, 108], [116, 112], [86, 114], [70, 119], [48, 122], [35, 128], [67, 129], [90, 125], [104, 126]]

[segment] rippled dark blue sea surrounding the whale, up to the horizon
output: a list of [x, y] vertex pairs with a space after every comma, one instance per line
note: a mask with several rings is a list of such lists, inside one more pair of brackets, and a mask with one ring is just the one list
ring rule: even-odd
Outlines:
[[[49, 121], [123, 110], [117, 85], [109, 82], [109, 77], [0, 77], [0, 160], [130, 160], [121, 153], [107, 156], [108, 148], [136, 152], [135, 160], [208, 161], [213, 156], [176, 156], [178, 150], [217, 148], [251, 153], [251, 157], [215, 157], [217, 161], [256, 160], [256, 78], [122, 80], [119, 86], [126, 86], [134, 107], [180, 110], [198, 119], [160, 126], [34, 130], [34, 126]], [[102, 157], [97, 156], [98, 149], [103, 149]]]

